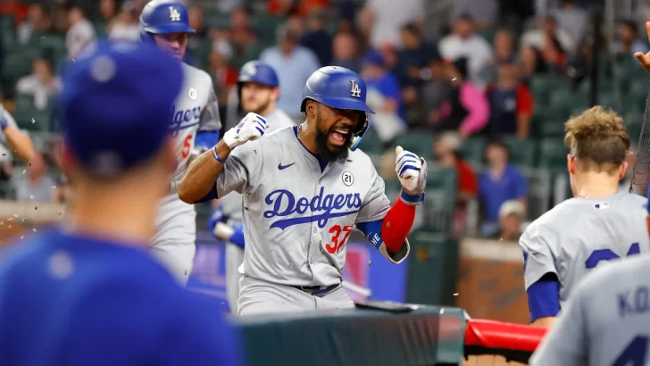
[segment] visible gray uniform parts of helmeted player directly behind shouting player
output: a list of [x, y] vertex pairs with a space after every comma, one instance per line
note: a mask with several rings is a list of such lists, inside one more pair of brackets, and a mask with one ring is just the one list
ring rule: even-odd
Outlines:
[[[275, 130], [283, 129], [289, 126], [296, 126], [293, 120], [289, 118], [287, 113], [276, 108], [273, 112], [263, 116], [269, 127], [266, 129], [266, 134]], [[263, 136], [262, 136], [263, 138]], [[242, 195], [237, 192], [230, 192], [225, 197], [221, 198], [221, 210], [224, 215], [229, 216], [228, 224], [234, 225], [242, 220]], [[228, 293], [228, 303], [233, 313], [237, 313], [237, 299], [239, 298], [239, 266], [244, 262], [244, 249], [234, 245], [226, 245], [226, 291]]]

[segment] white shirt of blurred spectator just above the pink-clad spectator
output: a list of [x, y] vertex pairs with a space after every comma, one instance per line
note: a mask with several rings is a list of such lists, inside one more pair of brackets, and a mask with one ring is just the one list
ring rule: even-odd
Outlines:
[[487, 86], [486, 78], [482, 77], [492, 57], [492, 47], [487, 40], [476, 34], [466, 39], [450, 34], [440, 40], [438, 47], [440, 54], [447, 60], [453, 61], [459, 57], [466, 57], [471, 82], [481, 89]]

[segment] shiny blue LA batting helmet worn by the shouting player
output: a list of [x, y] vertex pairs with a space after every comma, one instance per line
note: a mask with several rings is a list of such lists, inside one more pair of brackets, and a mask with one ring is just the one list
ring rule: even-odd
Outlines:
[[370, 128], [368, 113], [374, 113], [366, 104], [367, 91], [365, 81], [356, 72], [339, 66], [321, 67], [304, 84], [300, 112], [305, 112], [308, 100], [331, 108], [363, 112], [365, 118], [357, 124], [350, 141], [350, 150], [354, 151]]

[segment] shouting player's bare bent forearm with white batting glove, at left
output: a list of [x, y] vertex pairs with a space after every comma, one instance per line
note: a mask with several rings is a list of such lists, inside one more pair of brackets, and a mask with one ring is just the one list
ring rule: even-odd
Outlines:
[[[185, 177], [179, 183], [180, 199], [187, 204], [196, 204], [216, 198], [217, 179], [220, 178], [224, 167], [228, 165], [232, 166], [232, 170], [237, 171], [233, 171], [232, 177], [221, 177], [223, 190], [229, 192], [240, 186], [248, 174], [245, 161], [254, 157], [249, 156], [251, 154], [244, 154], [246, 157], [234, 156], [229, 159], [230, 153], [237, 146], [262, 137], [266, 128], [266, 120], [262, 116], [255, 113], [246, 114], [237, 126], [223, 135], [223, 139], [217, 145], [201, 154], [189, 165]], [[229, 171], [229, 168], [226, 170]]]

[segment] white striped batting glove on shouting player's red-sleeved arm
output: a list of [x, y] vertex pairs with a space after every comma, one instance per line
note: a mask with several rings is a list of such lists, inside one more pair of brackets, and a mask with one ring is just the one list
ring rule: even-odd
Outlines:
[[420, 156], [405, 151], [402, 146], [395, 149], [397, 179], [402, 183], [400, 199], [405, 204], [421, 204], [424, 188], [427, 186], [427, 162]]

